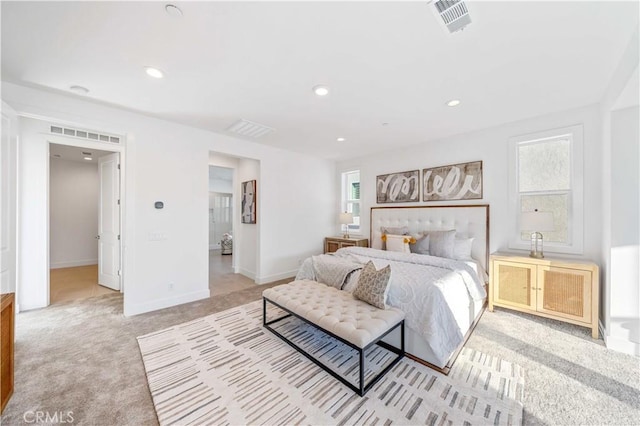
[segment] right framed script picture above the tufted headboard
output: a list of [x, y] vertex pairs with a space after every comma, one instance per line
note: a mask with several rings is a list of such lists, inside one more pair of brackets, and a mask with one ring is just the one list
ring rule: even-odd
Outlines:
[[482, 161], [422, 170], [422, 201], [482, 199]]

